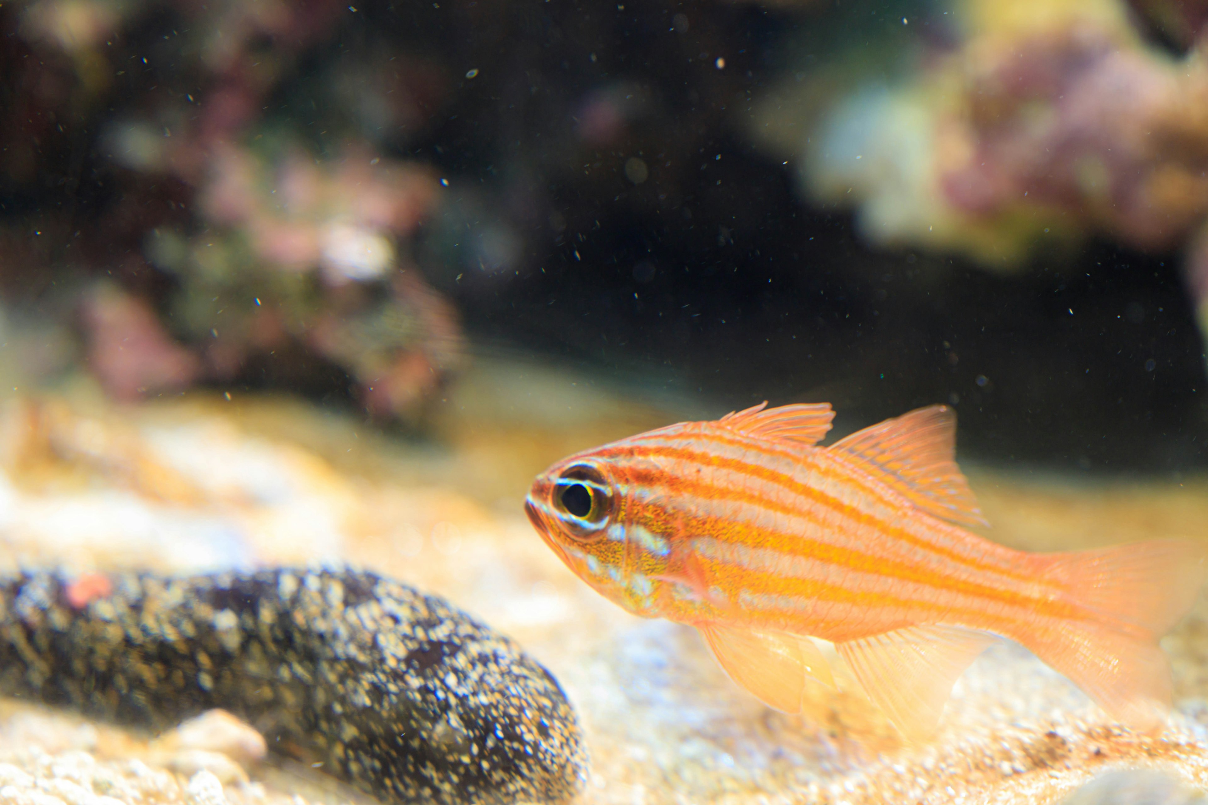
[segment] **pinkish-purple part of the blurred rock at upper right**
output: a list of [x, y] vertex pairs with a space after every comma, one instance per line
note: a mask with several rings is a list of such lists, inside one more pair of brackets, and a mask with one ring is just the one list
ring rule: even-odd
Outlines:
[[975, 147], [941, 179], [957, 209], [993, 215], [1027, 199], [1145, 249], [1179, 243], [1208, 212], [1208, 128], [1171, 127], [1190, 99], [1208, 99], [1200, 65], [1075, 28], [980, 68], [966, 92]]

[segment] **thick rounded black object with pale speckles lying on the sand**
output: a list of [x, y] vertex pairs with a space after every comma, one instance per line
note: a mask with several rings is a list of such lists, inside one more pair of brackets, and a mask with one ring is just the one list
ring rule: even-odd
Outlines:
[[163, 729], [222, 707], [393, 803], [568, 800], [550, 673], [445, 601], [353, 571], [4, 582], [0, 692]]

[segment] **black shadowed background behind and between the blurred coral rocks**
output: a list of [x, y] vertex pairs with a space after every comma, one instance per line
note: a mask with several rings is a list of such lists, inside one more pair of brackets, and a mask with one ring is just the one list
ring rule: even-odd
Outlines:
[[[301, 49], [266, 119], [343, 115], [338, 99], [330, 109], [309, 101], [344, 59], [402, 53], [436, 71], [424, 84], [425, 122], [378, 145], [449, 179], [416, 253], [480, 342], [640, 375], [716, 399], [719, 413], [825, 399], [843, 430], [947, 402], [963, 453], [988, 461], [1202, 467], [1203, 345], [1178, 255], [1091, 241], [994, 274], [872, 249], [848, 212], [802, 198], [796, 164], [744, 134], [753, 99], [808, 62], [809, 42], [887, 36], [902, 8], [933, 13], [919, 4], [366, 4]], [[187, 187], [132, 182], [97, 147], [104, 121], [145, 103], [150, 87], [192, 80], [164, 34], [179, 24], [170, 10], [141, 18], [123, 46], [145, 54], [146, 69], [89, 115], [40, 129], [36, 175], [0, 181], [0, 217], [58, 215], [92, 244], [86, 269], [21, 270], [10, 258], [7, 298], [63, 315], [48, 278], [108, 270], [149, 226], [187, 215], [176, 206]], [[18, 29], [17, 11], [0, 7], [10, 117], [36, 72], [29, 59], [40, 58]], [[940, 23], [931, 35], [943, 39]], [[623, 121], [591, 129], [585, 116], [609, 93], [628, 95], [612, 106]], [[321, 150], [329, 142], [314, 128]], [[649, 169], [640, 185], [625, 175], [634, 156]], [[115, 227], [115, 210], [132, 206], [139, 215]], [[504, 246], [476, 241], [483, 231], [504, 233]], [[62, 250], [50, 252], [58, 266]], [[153, 275], [138, 282], [170, 286]], [[338, 396], [345, 379], [324, 372], [298, 386]]]

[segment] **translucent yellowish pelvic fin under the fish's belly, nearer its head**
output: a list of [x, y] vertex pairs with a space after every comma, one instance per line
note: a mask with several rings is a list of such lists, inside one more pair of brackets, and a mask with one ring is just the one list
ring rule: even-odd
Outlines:
[[826, 659], [808, 637], [716, 624], [697, 629], [730, 678], [771, 707], [801, 712], [807, 677], [835, 687]]

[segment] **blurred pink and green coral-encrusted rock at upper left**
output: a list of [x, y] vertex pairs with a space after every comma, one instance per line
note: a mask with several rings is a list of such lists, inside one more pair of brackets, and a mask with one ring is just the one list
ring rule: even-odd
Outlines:
[[[437, 177], [383, 153], [422, 123], [440, 71], [383, 52], [321, 58], [350, 13], [325, 0], [0, 8], [6, 296], [76, 311], [115, 397], [343, 385], [374, 416], [413, 418], [458, 366], [457, 316], [411, 258]], [[291, 91], [315, 110], [304, 121], [280, 103]]]

